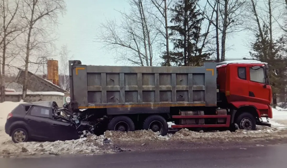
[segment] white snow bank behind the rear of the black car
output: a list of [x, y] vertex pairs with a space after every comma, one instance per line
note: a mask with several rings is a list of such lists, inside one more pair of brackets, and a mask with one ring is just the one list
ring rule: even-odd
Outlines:
[[[5, 101], [3, 103], [0, 103], [0, 126], [4, 126], [6, 123], [7, 115], [19, 104], [25, 103], [23, 101], [21, 102], [11, 102], [11, 101]], [[2, 136], [2, 135], [1, 135]], [[1, 137], [0, 136], [0, 137]]]

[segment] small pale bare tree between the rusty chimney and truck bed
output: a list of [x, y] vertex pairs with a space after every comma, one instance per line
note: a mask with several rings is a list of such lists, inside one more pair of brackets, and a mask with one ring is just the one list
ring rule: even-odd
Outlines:
[[73, 56], [69, 55], [70, 51], [68, 50], [67, 45], [63, 45], [61, 47], [61, 51], [59, 54], [60, 59], [60, 78], [59, 78], [59, 84], [60, 87], [64, 90], [68, 91], [69, 88], [69, 62], [68, 60], [71, 60]]

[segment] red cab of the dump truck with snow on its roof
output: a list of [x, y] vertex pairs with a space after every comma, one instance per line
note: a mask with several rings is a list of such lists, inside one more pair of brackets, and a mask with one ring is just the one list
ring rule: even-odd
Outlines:
[[249, 112], [257, 125], [262, 117], [272, 118], [272, 89], [267, 75], [268, 65], [260, 61], [223, 62], [217, 69], [218, 106], [233, 109], [232, 119]]

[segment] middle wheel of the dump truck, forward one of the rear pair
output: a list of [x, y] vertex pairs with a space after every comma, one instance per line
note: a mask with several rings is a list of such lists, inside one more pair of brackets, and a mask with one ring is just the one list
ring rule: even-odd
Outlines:
[[165, 136], [168, 132], [168, 124], [164, 117], [160, 115], [151, 115], [144, 121], [143, 129], [159, 132], [160, 135]]

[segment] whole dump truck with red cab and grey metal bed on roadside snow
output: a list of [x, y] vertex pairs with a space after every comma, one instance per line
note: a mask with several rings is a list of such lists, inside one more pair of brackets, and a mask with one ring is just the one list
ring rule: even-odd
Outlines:
[[[272, 118], [268, 65], [213, 63], [203, 67], [82, 65], [69, 61], [71, 102], [97, 130], [231, 127], [255, 130]], [[274, 73], [276, 71], [274, 70]], [[85, 118], [84, 117], [84, 118]], [[263, 122], [262, 118], [267, 118]]]

